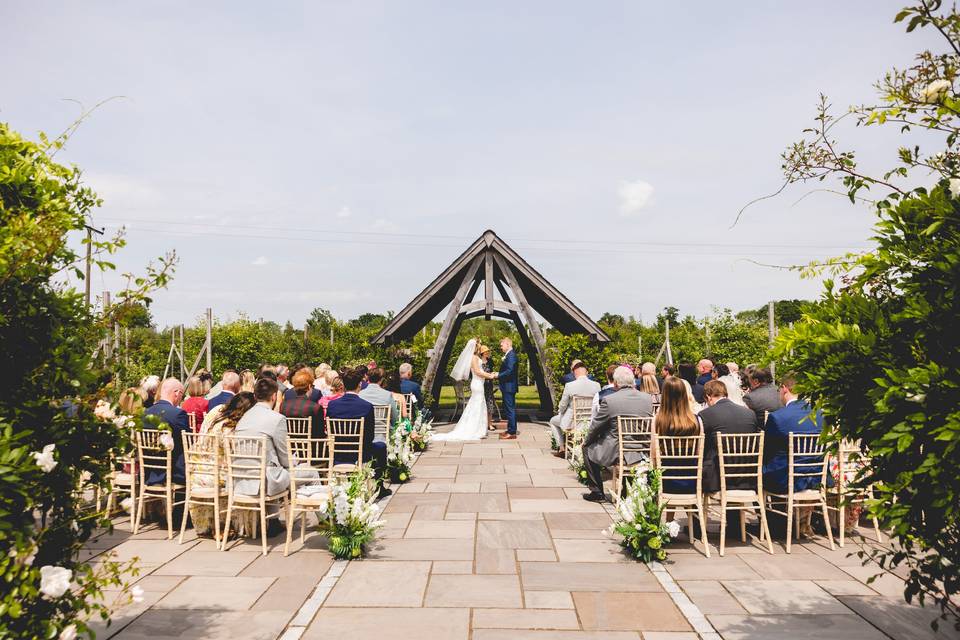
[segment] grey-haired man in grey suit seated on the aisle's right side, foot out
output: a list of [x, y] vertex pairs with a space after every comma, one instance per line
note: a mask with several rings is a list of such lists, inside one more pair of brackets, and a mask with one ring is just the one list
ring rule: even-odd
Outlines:
[[[600, 401], [597, 417], [590, 423], [590, 431], [583, 441], [583, 463], [590, 482], [590, 493], [583, 499], [590, 502], [607, 499], [603, 492], [603, 467], [612, 466], [620, 459], [617, 416], [653, 416], [653, 398], [634, 388], [630, 367], [617, 367], [613, 372], [613, 384], [617, 390]], [[632, 457], [627, 458], [627, 464], [640, 462], [640, 454], [632, 454]]]

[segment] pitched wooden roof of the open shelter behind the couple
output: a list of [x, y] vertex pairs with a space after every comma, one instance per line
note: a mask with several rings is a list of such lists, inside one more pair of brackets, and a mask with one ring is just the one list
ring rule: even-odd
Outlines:
[[[487, 256], [493, 259], [487, 260]], [[508, 280], [501, 269], [501, 261], [509, 271], [513, 272], [529, 305], [555, 329], [565, 334], [586, 333], [594, 340], [609, 342], [610, 338], [607, 334], [587, 314], [577, 308], [521, 258], [520, 254], [490, 230], [477, 238], [443, 273], [404, 307], [390, 324], [377, 334], [373, 342], [389, 344], [412, 337], [450, 304], [470, 270], [476, 273], [473, 275], [474, 284], [470, 295], [465, 302], [469, 302], [473, 293], [485, 283], [487, 274], [491, 274], [495, 282], [487, 283], [485, 290], [492, 291], [494, 283], [503, 283]], [[486, 267], [488, 264], [492, 265], [492, 269]], [[500, 289], [502, 286], [497, 288]], [[497, 312], [489, 313], [490, 309], [491, 307], [488, 306], [487, 315], [501, 315]], [[471, 315], [483, 315], [483, 313]]]

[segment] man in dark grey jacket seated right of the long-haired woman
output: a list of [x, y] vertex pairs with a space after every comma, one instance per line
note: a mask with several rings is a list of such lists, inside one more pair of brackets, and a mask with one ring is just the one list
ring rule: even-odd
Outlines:
[[[703, 492], [720, 491], [720, 460], [717, 451], [717, 434], [756, 433], [757, 416], [746, 407], [734, 404], [727, 398], [727, 387], [719, 380], [703, 385], [707, 408], [700, 412], [703, 422]], [[736, 473], [744, 473], [742, 468]], [[746, 482], [743, 482], [746, 480]], [[737, 482], [739, 481], [739, 482]], [[756, 483], [748, 478], [734, 478], [727, 486], [730, 489], [756, 489]]]

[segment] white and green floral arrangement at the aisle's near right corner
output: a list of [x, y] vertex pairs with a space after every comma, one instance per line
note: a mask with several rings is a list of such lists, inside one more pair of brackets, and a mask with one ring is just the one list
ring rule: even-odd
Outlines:
[[618, 533], [630, 554], [643, 562], [666, 560], [664, 545], [680, 533], [676, 521], [663, 522], [663, 509], [657, 504], [660, 471], [646, 464], [635, 470], [627, 483], [627, 495], [617, 505], [617, 513], [608, 533]]

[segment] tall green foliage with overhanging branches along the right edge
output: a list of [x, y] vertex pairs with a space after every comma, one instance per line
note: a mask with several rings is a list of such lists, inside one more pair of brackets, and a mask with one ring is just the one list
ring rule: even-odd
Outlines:
[[[862, 553], [864, 563], [901, 567], [907, 601], [932, 599], [941, 619], [960, 628], [960, 14], [940, 13], [941, 5], [925, 0], [895, 20], [908, 32], [931, 27], [946, 40], [944, 52], [922, 51], [877, 83], [878, 104], [848, 112], [864, 126], [926, 130], [919, 139], [935, 148], [921, 151], [910, 138], [896, 165], [868, 175], [831, 137], [840, 117], [822, 98], [815, 125], [784, 153], [788, 183], [834, 178], [854, 203], [870, 189], [886, 195], [868, 201], [877, 215], [874, 250], [803, 270], [835, 279], [782, 332], [775, 355], [834, 426], [826, 439], [859, 441], [869, 452], [852, 491], [874, 485], [867, 510], [895, 544]], [[916, 170], [921, 183], [907, 186]]]

